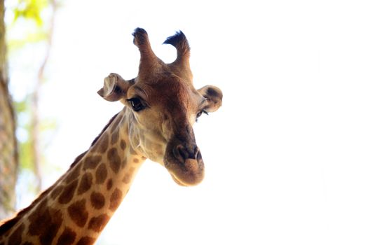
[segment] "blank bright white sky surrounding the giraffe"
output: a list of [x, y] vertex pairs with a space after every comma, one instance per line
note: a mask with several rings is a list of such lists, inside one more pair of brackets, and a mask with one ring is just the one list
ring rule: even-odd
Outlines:
[[41, 107], [59, 120], [53, 165], [66, 170], [122, 108], [96, 91], [110, 72], [136, 76], [135, 27], [165, 62], [175, 50], [161, 43], [181, 29], [196, 87], [224, 92], [195, 126], [205, 181], [179, 187], [147, 161], [97, 244], [367, 244], [367, 12], [365, 1], [63, 1]]

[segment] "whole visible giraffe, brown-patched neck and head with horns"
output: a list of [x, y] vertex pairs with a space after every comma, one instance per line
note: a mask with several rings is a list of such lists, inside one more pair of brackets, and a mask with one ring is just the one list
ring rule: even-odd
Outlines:
[[170, 64], [156, 57], [144, 29], [132, 35], [140, 52], [137, 77], [124, 80], [111, 73], [97, 92], [109, 102], [122, 102], [123, 109], [53, 186], [2, 223], [1, 245], [93, 244], [147, 158], [163, 165], [181, 186], [203, 180], [192, 126], [203, 113], [219, 109], [222, 91], [193, 87], [182, 31], [164, 42], [177, 50]]

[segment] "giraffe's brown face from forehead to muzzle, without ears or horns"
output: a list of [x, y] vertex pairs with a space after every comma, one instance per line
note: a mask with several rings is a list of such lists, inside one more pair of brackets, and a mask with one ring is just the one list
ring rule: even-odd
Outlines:
[[207, 113], [207, 99], [177, 76], [163, 78], [155, 85], [132, 85], [127, 106], [134, 127], [130, 141], [146, 158], [164, 165], [182, 185], [203, 179], [204, 165], [193, 132], [193, 124]]

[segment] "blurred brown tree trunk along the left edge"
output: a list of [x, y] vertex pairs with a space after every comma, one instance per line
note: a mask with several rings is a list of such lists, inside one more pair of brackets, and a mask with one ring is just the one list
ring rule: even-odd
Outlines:
[[15, 210], [18, 169], [15, 115], [8, 92], [4, 12], [4, 0], [0, 0], [0, 220]]

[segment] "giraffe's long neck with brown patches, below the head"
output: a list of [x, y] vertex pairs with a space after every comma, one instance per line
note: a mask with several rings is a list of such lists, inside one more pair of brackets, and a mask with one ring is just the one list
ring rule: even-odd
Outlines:
[[0, 244], [93, 244], [146, 159], [130, 144], [128, 117], [123, 109], [112, 118], [67, 173], [0, 226]]

